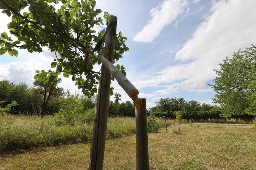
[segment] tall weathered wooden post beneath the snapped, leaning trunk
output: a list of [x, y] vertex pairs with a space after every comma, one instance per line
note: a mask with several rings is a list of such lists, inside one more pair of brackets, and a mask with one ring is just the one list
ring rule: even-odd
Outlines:
[[[113, 15], [110, 16], [108, 23], [117, 21]], [[112, 26], [106, 34], [104, 56], [113, 63], [114, 46], [116, 42], [116, 26]], [[102, 170], [105, 152], [106, 130], [108, 122], [109, 91], [111, 74], [102, 65], [97, 96], [95, 119], [93, 123], [93, 138], [90, 150], [90, 160], [88, 170]]]

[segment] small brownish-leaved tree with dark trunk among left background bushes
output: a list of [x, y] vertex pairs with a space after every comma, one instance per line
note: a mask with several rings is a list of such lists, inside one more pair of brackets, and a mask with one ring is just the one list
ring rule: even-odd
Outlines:
[[[49, 78], [49, 77], [48, 77]], [[61, 96], [63, 94], [63, 88], [58, 88], [58, 83], [61, 82], [61, 78], [56, 78], [50, 81], [42, 81], [35, 79], [34, 84], [34, 93], [41, 94], [43, 96], [42, 110], [43, 112], [47, 111], [47, 104], [51, 96]]]

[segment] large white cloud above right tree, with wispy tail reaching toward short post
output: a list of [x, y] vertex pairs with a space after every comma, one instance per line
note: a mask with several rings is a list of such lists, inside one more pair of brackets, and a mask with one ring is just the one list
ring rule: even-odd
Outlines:
[[215, 78], [226, 56], [231, 57], [239, 48], [256, 44], [256, 3], [248, 0], [221, 0], [213, 3], [208, 17], [196, 29], [192, 38], [175, 55], [183, 64], [169, 66], [149, 79], [136, 81], [136, 87], [163, 85], [154, 94], [173, 92], [210, 92], [207, 81]]

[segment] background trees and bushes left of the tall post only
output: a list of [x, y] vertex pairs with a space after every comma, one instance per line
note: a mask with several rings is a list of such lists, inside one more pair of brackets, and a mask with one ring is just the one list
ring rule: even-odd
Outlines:
[[55, 83], [34, 82], [31, 88], [24, 82], [15, 84], [4, 79], [0, 81], [0, 107], [6, 108], [13, 101], [17, 105], [13, 106], [9, 113], [21, 115], [45, 115], [60, 111], [63, 103], [79, 100], [84, 111], [95, 107], [95, 97], [85, 97], [79, 94], [64, 92], [63, 88], [58, 88], [57, 84], [61, 79], [56, 79]]

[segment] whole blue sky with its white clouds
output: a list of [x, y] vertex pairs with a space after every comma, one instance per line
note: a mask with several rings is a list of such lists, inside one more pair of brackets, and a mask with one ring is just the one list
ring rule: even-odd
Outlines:
[[[147, 99], [147, 107], [160, 98], [183, 97], [211, 103], [215, 92], [207, 85], [213, 69], [239, 48], [256, 44], [255, 0], [96, 0], [97, 8], [118, 18], [117, 31], [128, 38], [130, 51], [117, 64]], [[0, 15], [0, 31], [10, 18]], [[95, 28], [100, 31], [102, 28]], [[54, 55], [19, 51], [0, 56], [0, 79], [32, 86], [36, 69], [48, 70]], [[96, 67], [99, 69], [100, 66]], [[70, 79], [61, 86], [78, 91]], [[116, 83], [111, 84], [129, 100]], [[113, 100], [113, 96], [111, 97]]]

